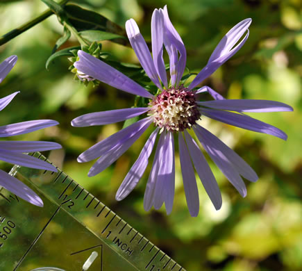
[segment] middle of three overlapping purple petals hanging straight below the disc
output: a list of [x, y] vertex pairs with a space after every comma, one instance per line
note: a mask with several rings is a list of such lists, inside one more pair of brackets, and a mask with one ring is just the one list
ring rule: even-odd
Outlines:
[[[163, 136], [163, 135], [162, 135]], [[156, 181], [156, 190], [154, 195], [154, 208], [159, 209], [162, 206], [162, 203], [170, 196], [169, 188], [171, 188], [171, 179], [174, 180], [173, 174], [173, 141], [171, 132], [168, 132], [165, 135], [163, 142], [160, 167], [158, 170], [158, 179]], [[172, 187], [173, 188], [173, 187]], [[174, 190], [171, 191], [174, 197]], [[167, 196], [167, 197], [166, 197]], [[172, 206], [173, 206], [173, 197], [172, 197]], [[171, 200], [171, 197], [169, 197]]]

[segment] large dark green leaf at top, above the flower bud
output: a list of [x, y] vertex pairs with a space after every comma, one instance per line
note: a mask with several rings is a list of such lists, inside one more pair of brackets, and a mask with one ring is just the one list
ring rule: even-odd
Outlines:
[[[116, 34], [125, 38], [116, 37], [112, 40], [113, 42], [129, 45], [124, 28], [111, 22], [106, 17], [99, 15], [99, 13], [94, 13], [94, 11], [86, 10], [73, 4], [66, 5], [64, 10], [67, 13], [69, 23], [71, 23], [78, 32], [95, 30]], [[92, 35], [92, 33], [89, 33], [89, 35]], [[106, 40], [108, 40], [108, 38], [106, 38]]]

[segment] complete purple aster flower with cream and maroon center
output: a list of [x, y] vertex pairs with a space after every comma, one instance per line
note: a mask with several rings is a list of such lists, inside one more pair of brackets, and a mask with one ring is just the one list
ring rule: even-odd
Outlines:
[[[267, 133], [286, 140], [287, 136], [283, 131], [265, 122], [255, 120], [244, 113], [290, 111], [292, 108], [277, 101], [226, 100], [208, 86], [203, 86], [199, 90], [194, 88], [242, 47], [249, 36], [248, 28], [250, 24], [251, 19], [244, 19], [230, 29], [213, 51], [207, 65], [201, 69], [201, 72], [192, 83], [185, 87], [180, 83], [186, 63], [185, 46], [170, 22], [167, 7], [156, 9], [153, 12], [151, 20], [153, 58], [137, 24], [133, 19], [129, 19], [126, 22], [128, 38], [144, 71], [158, 87], [156, 95], [152, 95], [141, 85], [101, 60], [86, 54], [84, 51], [78, 51], [80, 60], [74, 66], [79, 71], [103, 83], [108, 83], [108, 85], [119, 90], [149, 99], [149, 106], [146, 108], [126, 108], [89, 113], [72, 120], [73, 126], [83, 127], [121, 122], [144, 113], [148, 115], [135, 124], [98, 142], [78, 156], [78, 162], [80, 163], [99, 158], [91, 167], [88, 176], [99, 174], [99, 172], [114, 163], [153, 124], [155, 130], [151, 133], [140, 156], [121, 183], [116, 199], [124, 199], [140, 181], [149, 163], [149, 157], [153, 151], [156, 138], [159, 137], [153, 165], [146, 184], [144, 208], [146, 211], [149, 211], [152, 206], [158, 209], [165, 202], [167, 213], [171, 212], [174, 201], [175, 177], [174, 136], [178, 135], [183, 186], [190, 214], [196, 216], [199, 213], [199, 194], [194, 168], [212, 204], [218, 210], [221, 208], [221, 193], [217, 181], [205, 161], [201, 149], [199, 149], [199, 145], [188, 133], [188, 130], [192, 129], [205, 151], [212, 158], [212, 161], [215, 162], [230, 183], [240, 192], [240, 195], [245, 197], [246, 186], [242, 176], [249, 181], [257, 181], [257, 174], [224, 142], [221, 142], [216, 136], [197, 124], [196, 121], [200, 120], [201, 116], [204, 115], [213, 120], [219, 120], [220, 122], [259, 133]], [[246, 34], [244, 35], [244, 33]], [[244, 38], [242, 38], [243, 35]], [[169, 55], [169, 83], [162, 58], [163, 47], [165, 47]], [[197, 101], [196, 95], [201, 92], [210, 93], [214, 100]]]

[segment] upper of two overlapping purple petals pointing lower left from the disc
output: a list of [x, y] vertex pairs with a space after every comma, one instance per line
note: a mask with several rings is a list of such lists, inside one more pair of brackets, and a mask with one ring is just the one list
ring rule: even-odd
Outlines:
[[94, 160], [95, 158], [101, 156], [101, 154], [106, 153], [108, 149], [111, 149], [115, 145], [121, 145], [124, 140], [131, 138], [135, 135], [135, 133], [144, 128], [146, 124], [150, 124], [151, 122], [151, 118], [146, 117], [124, 129], [121, 129], [121, 131], [114, 133], [112, 136], [109, 136], [108, 138], [98, 142], [80, 154], [80, 156], [78, 156], [78, 162], [85, 163]]

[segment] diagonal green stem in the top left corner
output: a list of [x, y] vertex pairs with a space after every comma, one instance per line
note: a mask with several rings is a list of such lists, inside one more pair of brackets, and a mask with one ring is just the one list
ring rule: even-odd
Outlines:
[[[64, 6], [69, 0], [62, 0], [60, 1], [59, 5]], [[39, 24], [40, 22], [44, 21], [44, 19], [47, 19], [49, 16], [53, 15], [53, 12], [49, 9], [44, 11], [39, 17], [26, 22], [22, 26], [19, 26], [19, 28], [15, 28], [12, 31], [6, 33], [0, 38], [0, 46], [5, 44], [6, 42], [12, 40], [13, 38], [17, 37], [18, 35], [24, 33], [26, 30], [32, 28], [36, 24]]]

